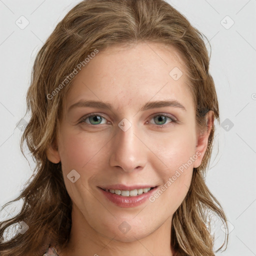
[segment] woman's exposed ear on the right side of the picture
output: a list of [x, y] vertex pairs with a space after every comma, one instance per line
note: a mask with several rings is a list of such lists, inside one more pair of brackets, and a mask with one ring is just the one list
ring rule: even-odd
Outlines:
[[205, 121], [206, 129], [203, 132], [199, 132], [197, 134], [195, 153], [198, 157], [194, 161], [194, 168], [198, 167], [201, 164], [203, 155], [207, 149], [208, 137], [214, 125], [214, 112], [212, 110], [209, 110], [205, 114]]

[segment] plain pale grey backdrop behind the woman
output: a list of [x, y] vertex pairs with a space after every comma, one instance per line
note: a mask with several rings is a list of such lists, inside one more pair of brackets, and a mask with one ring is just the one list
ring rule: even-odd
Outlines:
[[[27, 156], [30, 168], [19, 150], [19, 121], [25, 114], [35, 54], [78, 2], [0, 0], [0, 207], [19, 195], [34, 166]], [[223, 206], [230, 228], [227, 250], [216, 255], [256, 255], [256, 0], [168, 2], [210, 40], [212, 50], [210, 73], [220, 125], [216, 123], [206, 182]], [[218, 223], [216, 229], [221, 237]], [[218, 237], [216, 244], [220, 241]]]

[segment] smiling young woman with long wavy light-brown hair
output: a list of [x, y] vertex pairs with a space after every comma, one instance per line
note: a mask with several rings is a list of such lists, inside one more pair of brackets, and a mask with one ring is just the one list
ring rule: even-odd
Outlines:
[[21, 145], [37, 166], [1, 255], [214, 255], [208, 69], [201, 33], [163, 0], [72, 8], [34, 62]]

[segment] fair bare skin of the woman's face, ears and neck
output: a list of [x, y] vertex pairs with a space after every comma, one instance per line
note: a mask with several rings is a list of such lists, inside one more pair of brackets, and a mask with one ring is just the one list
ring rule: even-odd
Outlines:
[[[178, 80], [169, 75], [173, 67], [183, 72]], [[205, 131], [198, 131], [187, 83], [184, 63], [175, 49], [152, 42], [100, 51], [75, 76], [64, 100], [57, 140], [47, 150], [51, 162], [61, 161], [73, 201], [70, 241], [66, 248], [58, 248], [60, 256], [173, 255], [172, 215], [188, 191], [193, 167], [201, 163], [214, 120], [209, 111]], [[139, 110], [148, 101], [167, 99], [186, 110], [173, 106]], [[68, 111], [79, 100], [108, 102], [113, 110], [76, 107]], [[89, 113], [102, 119], [78, 123]], [[162, 114], [178, 122], [162, 120]], [[153, 118], [156, 115], [160, 116]], [[123, 118], [131, 123], [126, 131], [118, 126]], [[119, 207], [97, 188], [116, 183], [161, 187], [196, 152], [197, 159], [153, 202]], [[72, 169], [80, 174], [74, 183], [67, 178]], [[125, 234], [118, 228], [123, 221], [131, 227]]]

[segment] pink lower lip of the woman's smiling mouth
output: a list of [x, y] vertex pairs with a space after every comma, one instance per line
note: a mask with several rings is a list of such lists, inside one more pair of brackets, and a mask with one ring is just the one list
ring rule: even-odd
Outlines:
[[143, 202], [145, 202], [149, 198], [149, 196], [152, 195], [152, 193], [154, 193], [154, 191], [157, 189], [157, 186], [152, 188], [146, 193], [142, 193], [135, 196], [122, 196], [119, 194], [110, 193], [108, 191], [103, 190], [102, 188], [99, 188], [99, 189], [102, 191], [103, 195], [107, 199], [109, 199], [111, 202], [113, 202], [117, 206], [123, 207], [123, 208], [129, 208], [129, 207], [135, 207], [135, 206], [141, 205]]

